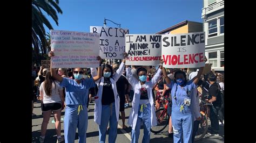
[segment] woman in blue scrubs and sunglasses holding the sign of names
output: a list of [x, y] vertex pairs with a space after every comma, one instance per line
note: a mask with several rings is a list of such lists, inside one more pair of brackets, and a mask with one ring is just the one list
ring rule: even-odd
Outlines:
[[[54, 56], [51, 51], [49, 56]], [[102, 61], [100, 56], [97, 60]], [[88, 123], [88, 113], [86, 108], [89, 89], [95, 87], [95, 81], [102, 76], [102, 70], [98, 70], [97, 76], [93, 78], [82, 79], [83, 68], [74, 68], [73, 75], [75, 79], [62, 77], [51, 68], [51, 76], [60, 82], [60, 86], [66, 88], [66, 110], [64, 117], [64, 137], [65, 142], [75, 142], [76, 129], [78, 128], [79, 143], [86, 142], [86, 130]]]

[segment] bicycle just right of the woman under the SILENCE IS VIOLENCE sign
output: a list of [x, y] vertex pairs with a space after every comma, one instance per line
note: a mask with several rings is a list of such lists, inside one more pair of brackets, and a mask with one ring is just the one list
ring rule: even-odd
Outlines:
[[197, 130], [196, 136], [194, 137], [194, 140], [200, 140], [204, 138], [205, 134], [208, 131], [208, 118], [210, 115], [210, 108], [209, 106], [212, 106], [212, 103], [207, 103], [203, 99], [200, 99], [200, 113], [201, 113], [201, 120], [199, 124], [199, 128]]

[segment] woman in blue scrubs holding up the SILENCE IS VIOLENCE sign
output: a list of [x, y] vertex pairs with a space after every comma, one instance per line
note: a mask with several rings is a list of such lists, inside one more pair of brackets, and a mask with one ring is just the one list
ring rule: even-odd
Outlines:
[[165, 68], [163, 68], [163, 75], [165, 77], [167, 87], [171, 88], [172, 95], [172, 126], [173, 126], [173, 141], [181, 142], [183, 135], [183, 142], [192, 141], [193, 130], [193, 114], [191, 104], [190, 91], [197, 88], [196, 84], [199, 81], [204, 67], [201, 67], [197, 76], [190, 81], [186, 81], [186, 73], [178, 70], [174, 73], [174, 81], [171, 81], [166, 75]]

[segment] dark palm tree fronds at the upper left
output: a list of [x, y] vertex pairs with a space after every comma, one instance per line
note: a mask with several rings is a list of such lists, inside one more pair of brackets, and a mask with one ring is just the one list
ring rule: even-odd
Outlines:
[[49, 29], [53, 29], [49, 20], [43, 15], [42, 10], [51, 16], [56, 25], [58, 25], [57, 12], [61, 14], [63, 13], [58, 4], [58, 0], [32, 0], [32, 49], [38, 58], [40, 52], [42, 53], [42, 56], [46, 54], [46, 48], [48, 46], [43, 25]]

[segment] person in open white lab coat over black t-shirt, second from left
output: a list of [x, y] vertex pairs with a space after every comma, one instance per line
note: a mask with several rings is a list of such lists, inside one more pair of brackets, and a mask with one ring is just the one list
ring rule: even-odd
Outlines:
[[[105, 142], [107, 124], [109, 122], [109, 142], [116, 142], [120, 108], [120, 98], [117, 92], [116, 82], [123, 74], [124, 67], [125, 59], [123, 59], [116, 73], [113, 73], [110, 65], [103, 65], [103, 77], [96, 81], [99, 90], [95, 96], [94, 121], [99, 125], [99, 142]], [[95, 76], [97, 73], [96, 68], [91, 68], [91, 72], [91, 75]]]

